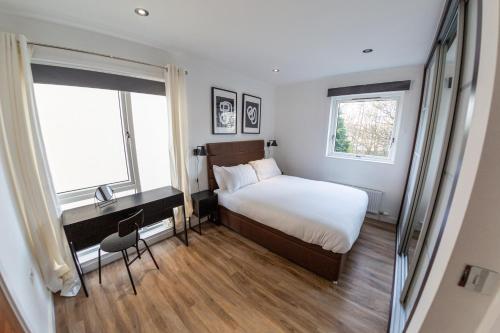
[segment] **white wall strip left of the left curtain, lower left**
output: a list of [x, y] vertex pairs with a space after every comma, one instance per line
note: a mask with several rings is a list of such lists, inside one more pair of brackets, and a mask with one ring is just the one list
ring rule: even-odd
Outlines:
[[[0, 157], [0, 162], [3, 162]], [[23, 236], [21, 219], [0, 163], [0, 277], [5, 294], [31, 332], [54, 331], [52, 294], [45, 288]]]

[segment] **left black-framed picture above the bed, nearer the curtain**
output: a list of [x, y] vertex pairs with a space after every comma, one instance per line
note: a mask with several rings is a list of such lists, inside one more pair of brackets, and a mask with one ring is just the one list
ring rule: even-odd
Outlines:
[[212, 87], [212, 133], [236, 134], [238, 95]]

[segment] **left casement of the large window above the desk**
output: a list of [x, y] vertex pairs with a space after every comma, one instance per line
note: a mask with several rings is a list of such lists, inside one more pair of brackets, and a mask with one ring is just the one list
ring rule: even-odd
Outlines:
[[54, 187], [62, 202], [95, 187], [133, 189], [131, 129], [119, 91], [35, 84], [38, 114]]

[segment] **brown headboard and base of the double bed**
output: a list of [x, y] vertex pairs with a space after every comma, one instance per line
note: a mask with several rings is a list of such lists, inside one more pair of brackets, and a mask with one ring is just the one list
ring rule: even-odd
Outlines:
[[[245, 164], [264, 158], [264, 140], [209, 143], [207, 151], [209, 188], [215, 190], [217, 182], [213, 166]], [[347, 253], [326, 251], [319, 245], [306, 243], [222, 206], [219, 206], [219, 220], [226, 227], [299, 266], [330, 281], [338, 281]]]

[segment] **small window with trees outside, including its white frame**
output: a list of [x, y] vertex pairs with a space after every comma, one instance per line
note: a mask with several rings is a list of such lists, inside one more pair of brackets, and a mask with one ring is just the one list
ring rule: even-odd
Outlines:
[[332, 98], [327, 156], [392, 163], [403, 93]]

